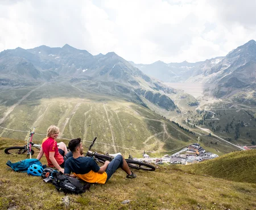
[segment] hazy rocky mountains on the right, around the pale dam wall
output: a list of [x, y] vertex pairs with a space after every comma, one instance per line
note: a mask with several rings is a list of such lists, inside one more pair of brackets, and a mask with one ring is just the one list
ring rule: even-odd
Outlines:
[[[133, 62], [132, 62], [133, 63]], [[163, 82], [213, 83], [207, 94], [230, 98], [247, 104], [256, 104], [256, 42], [233, 49], [224, 57], [189, 63], [134, 64], [143, 73]]]

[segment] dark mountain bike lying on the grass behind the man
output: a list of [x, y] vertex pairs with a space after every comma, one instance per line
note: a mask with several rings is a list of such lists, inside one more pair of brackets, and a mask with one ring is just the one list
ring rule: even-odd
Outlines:
[[[85, 156], [88, 157], [92, 157], [93, 159], [96, 160], [96, 162], [100, 162], [100, 163], [105, 163], [105, 161], [112, 161], [114, 159], [114, 156], [116, 156], [117, 154], [98, 154], [97, 152], [92, 152], [90, 151], [90, 149], [92, 148], [94, 142], [96, 141], [96, 138], [94, 138], [94, 140], [92, 141], [92, 144], [89, 146], [88, 152], [86, 152]], [[133, 168], [133, 169], [137, 169], [137, 170], [145, 170], [145, 171], [154, 171], [155, 170], [155, 166], [152, 166], [148, 163], [144, 163], [141, 161], [135, 161], [134, 159], [125, 159], [128, 166]]]

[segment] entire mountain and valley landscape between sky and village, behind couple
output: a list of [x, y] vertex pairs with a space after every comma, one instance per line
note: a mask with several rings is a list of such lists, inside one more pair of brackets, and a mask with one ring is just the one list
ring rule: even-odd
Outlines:
[[[254, 40], [225, 57], [150, 65], [68, 44], [8, 49], [0, 53], [0, 136], [26, 139], [36, 127], [40, 142], [55, 124], [63, 138], [97, 136], [102, 152], [169, 154], [199, 141], [221, 156], [255, 144], [255, 70]], [[211, 86], [195, 98], [168, 82]]]

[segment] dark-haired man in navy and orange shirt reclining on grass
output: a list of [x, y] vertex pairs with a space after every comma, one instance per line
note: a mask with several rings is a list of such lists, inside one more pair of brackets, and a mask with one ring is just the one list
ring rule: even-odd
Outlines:
[[89, 183], [105, 184], [115, 173], [115, 170], [121, 169], [127, 173], [126, 179], [134, 179], [137, 177], [130, 169], [125, 159], [119, 154], [111, 162], [106, 161], [103, 166], [98, 166], [91, 157], [84, 157], [82, 150], [81, 138], [72, 139], [68, 144], [69, 150], [73, 153], [65, 161], [64, 174], [71, 177], [78, 177]]

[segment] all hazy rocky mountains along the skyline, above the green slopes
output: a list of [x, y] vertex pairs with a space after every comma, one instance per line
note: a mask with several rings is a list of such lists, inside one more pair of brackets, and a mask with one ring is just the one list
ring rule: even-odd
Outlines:
[[[134, 64], [114, 52], [93, 56], [66, 44], [62, 48], [45, 45], [33, 49], [8, 49], [0, 53], [0, 85], [31, 86], [64, 81], [95, 93], [121, 96], [152, 110], [177, 111], [177, 101], [185, 106], [198, 104], [188, 94], [162, 82], [213, 83], [205, 94], [235, 102], [256, 104], [256, 42], [229, 52], [225, 57], [189, 63]], [[154, 79], [156, 78], [156, 79]]]

